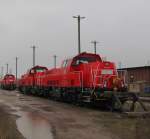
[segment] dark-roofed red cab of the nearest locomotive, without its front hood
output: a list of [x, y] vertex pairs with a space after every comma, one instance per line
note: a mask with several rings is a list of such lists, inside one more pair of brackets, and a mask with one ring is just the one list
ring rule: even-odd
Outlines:
[[93, 68], [102, 60], [99, 55], [92, 53], [81, 53], [72, 59], [71, 71], [80, 72], [81, 87], [88, 89], [93, 87]]

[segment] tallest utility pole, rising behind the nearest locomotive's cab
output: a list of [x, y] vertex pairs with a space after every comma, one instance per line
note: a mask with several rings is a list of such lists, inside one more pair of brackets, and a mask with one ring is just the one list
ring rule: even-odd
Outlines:
[[80, 15], [78, 16], [73, 16], [73, 18], [77, 18], [78, 20], [78, 53], [81, 53], [81, 43], [80, 43], [80, 20], [84, 19], [85, 17], [81, 17]]

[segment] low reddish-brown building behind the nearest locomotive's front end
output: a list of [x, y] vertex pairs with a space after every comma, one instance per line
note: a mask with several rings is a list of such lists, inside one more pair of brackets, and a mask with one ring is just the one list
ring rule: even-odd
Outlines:
[[129, 91], [148, 92], [147, 88], [150, 87], [150, 66], [118, 69], [118, 75], [124, 79]]

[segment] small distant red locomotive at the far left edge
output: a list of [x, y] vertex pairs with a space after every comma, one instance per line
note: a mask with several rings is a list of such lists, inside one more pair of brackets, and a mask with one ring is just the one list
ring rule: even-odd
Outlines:
[[6, 74], [1, 80], [1, 88], [7, 90], [16, 89], [16, 78], [12, 74]]

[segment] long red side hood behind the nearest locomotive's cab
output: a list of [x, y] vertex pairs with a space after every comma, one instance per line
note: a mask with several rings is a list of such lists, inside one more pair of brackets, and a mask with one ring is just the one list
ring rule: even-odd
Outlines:
[[64, 60], [62, 66], [46, 72], [46, 86], [55, 88], [81, 87], [80, 73], [71, 71], [71, 60]]

